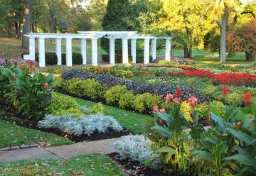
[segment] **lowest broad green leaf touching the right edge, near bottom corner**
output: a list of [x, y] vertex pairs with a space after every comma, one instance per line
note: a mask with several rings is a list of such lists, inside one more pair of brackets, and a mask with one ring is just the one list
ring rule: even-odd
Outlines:
[[238, 153], [236, 155], [223, 158], [223, 160], [237, 160], [238, 162], [242, 163], [243, 165], [250, 165], [250, 166], [256, 165], [255, 158], [253, 158], [250, 155], [245, 155], [243, 153]]

